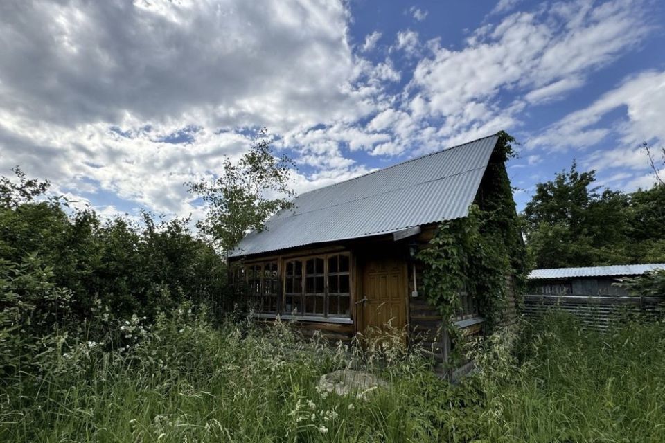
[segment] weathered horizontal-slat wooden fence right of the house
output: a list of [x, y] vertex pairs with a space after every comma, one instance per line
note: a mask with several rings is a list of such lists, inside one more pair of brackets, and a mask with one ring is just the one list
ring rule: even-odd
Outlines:
[[537, 317], [549, 309], [562, 309], [578, 316], [589, 327], [606, 329], [627, 316], [662, 318], [665, 297], [524, 296], [522, 314]]

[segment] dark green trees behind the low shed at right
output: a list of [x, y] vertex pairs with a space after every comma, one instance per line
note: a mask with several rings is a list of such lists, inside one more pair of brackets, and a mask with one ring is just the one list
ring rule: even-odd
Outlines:
[[595, 171], [576, 163], [538, 183], [524, 209], [535, 266], [600, 266], [665, 261], [665, 186], [624, 194], [592, 187]]

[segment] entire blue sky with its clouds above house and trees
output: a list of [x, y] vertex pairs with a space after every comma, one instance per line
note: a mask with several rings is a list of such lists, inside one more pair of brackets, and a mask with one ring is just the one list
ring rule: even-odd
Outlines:
[[104, 215], [201, 217], [211, 179], [267, 127], [303, 192], [505, 129], [522, 208], [595, 168], [653, 183], [665, 144], [659, 1], [0, 4], [0, 174], [21, 165]]

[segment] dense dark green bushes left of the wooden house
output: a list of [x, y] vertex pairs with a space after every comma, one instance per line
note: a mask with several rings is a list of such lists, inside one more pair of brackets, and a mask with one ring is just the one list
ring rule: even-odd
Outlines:
[[107, 319], [152, 318], [184, 301], [224, 301], [224, 259], [187, 219], [101, 221], [43, 195], [46, 182], [17, 175], [0, 179], [0, 372], [38, 365], [53, 334], [82, 334], [100, 305]]

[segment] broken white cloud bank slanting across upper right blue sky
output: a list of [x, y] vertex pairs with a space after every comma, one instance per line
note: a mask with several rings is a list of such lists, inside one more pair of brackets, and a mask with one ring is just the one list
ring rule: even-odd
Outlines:
[[[583, 87], [590, 73], [641, 42], [650, 27], [638, 6], [556, 3], [481, 26], [461, 49], [432, 45], [407, 87], [407, 106], [414, 116], [438, 117], [445, 144], [514, 128], [527, 103]], [[501, 101], [506, 93], [512, 102]]]

